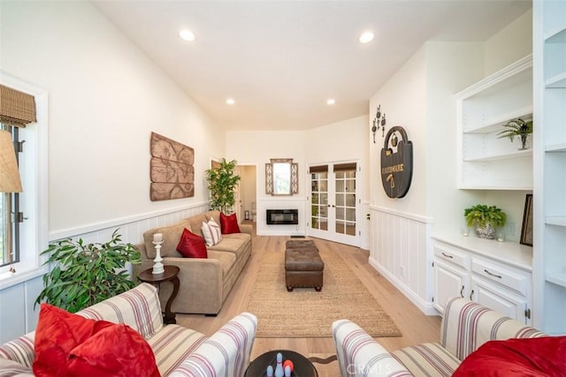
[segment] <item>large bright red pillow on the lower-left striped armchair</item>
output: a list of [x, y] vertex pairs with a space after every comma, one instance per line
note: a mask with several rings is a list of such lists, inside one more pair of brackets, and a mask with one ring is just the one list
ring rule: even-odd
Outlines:
[[34, 350], [34, 375], [40, 377], [159, 376], [151, 347], [134, 329], [49, 304], [40, 310]]

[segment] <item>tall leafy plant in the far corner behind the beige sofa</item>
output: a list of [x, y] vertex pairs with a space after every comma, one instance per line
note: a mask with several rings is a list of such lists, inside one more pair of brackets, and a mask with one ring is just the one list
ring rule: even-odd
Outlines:
[[206, 181], [210, 190], [210, 209], [227, 214], [236, 202], [235, 190], [240, 183], [240, 176], [236, 174], [236, 162], [220, 160], [220, 166], [206, 170]]

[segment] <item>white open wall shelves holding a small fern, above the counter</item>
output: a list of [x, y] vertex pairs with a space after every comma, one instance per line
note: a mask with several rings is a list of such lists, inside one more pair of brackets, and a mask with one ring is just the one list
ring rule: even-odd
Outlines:
[[[500, 139], [502, 125], [532, 119], [532, 56], [455, 94], [458, 188], [532, 190], [532, 148]], [[532, 140], [529, 140], [531, 143]]]

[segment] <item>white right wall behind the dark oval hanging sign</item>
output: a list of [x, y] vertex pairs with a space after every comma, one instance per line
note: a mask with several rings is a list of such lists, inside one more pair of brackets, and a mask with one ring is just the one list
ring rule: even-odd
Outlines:
[[508, 229], [516, 230], [509, 239], [518, 239], [525, 192], [455, 188], [453, 95], [531, 52], [532, 37], [526, 35], [531, 27], [530, 13], [486, 42], [425, 43], [371, 97], [370, 114], [381, 104], [387, 115], [386, 128], [399, 124], [408, 132], [414, 144], [414, 171], [407, 196], [387, 198], [379, 184], [382, 145], [370, 144], [370, 262], [425, 313], [434, 313], [430, 236], [458, 232], [463, 208], [477, 203], [498, 205], [509, 216]]

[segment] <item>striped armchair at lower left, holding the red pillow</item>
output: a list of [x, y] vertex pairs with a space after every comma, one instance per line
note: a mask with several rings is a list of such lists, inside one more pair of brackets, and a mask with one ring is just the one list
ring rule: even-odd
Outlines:
[[[256, 316], [251, 313], [237, 315], [210, 337], [179, 325], [164, 326], [157, 290], [148, 283], [77, 314], [92, 320], [125, 323], [140, 333], [149, 343], [162, 376], [241, 377], [249, 365], [257, 328]], [[34, 339], [35, 332], [31, 332], [0, 345], [0, 376], [34, 375]], [[95, 363], [96, 359], [90, 362]], [[104, 372], [108, 375], [107, 370]]]

